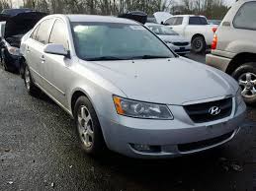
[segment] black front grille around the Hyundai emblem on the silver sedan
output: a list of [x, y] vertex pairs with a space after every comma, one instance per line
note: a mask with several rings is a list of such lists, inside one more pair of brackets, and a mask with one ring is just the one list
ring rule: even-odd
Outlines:
[[[220, 112], [213, 115], [210, 112], [212, 107], [218, 107]], [[224, 98], [211, 102], [191, 104], [184, 106], [186, 112], [195, 123], [205, 123], [222, 119], [231, 115], [232, 98]]]

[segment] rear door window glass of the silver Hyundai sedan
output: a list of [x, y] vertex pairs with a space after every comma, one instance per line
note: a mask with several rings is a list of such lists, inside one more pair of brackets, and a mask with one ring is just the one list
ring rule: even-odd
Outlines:
[[44, 20], [41, 25], [39, 32], [37, 33], [36, 40], [46, 44], [48, 43], [48, 31], [49, 28], [51, 27], [52, 20]]

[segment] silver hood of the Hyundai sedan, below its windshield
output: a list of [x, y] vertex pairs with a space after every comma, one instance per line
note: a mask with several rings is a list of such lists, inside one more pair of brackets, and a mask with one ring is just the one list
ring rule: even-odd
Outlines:
[[90, 63], [94, 72], [136, 100], [181, 105], [231, 96], [238, 89], [226, 74], [186, 58]]

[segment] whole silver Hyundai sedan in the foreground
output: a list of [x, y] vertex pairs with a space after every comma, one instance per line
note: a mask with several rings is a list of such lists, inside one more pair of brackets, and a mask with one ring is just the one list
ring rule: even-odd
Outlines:
[[177, 56], [137, 22], [51, 15], [22, 46], [27, 91], [74, 117], [87, 154], [106, 145], [132, 158], [183, 156], [230, 141], [243, 123], [231, 77]]

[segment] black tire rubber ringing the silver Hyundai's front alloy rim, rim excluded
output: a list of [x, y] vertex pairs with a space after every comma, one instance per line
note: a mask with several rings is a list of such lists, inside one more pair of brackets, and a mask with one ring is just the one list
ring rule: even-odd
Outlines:
[[[94, 131], [94, 141], [90, 148], [87, 148], [82, 143], [79, 131], [78, 131], [78, 112], [79, 108], [84, 105], [87, 107], [88, 111], [91, 114], [92, 120], [93, 120], [93, 131]], [[76, 134], [79, 139], [81, 148], [89, 155], [97, 156], [99, 154], [102, 154], [105, 150], [105, 142], [100, 126], [99, 119], [97, 117], [96, 111], [91, 103], [91, 101], [86, 96], [80, 96], [74, 106], [74, 119], [75, 119], [75, 126], [76, 126]]]

